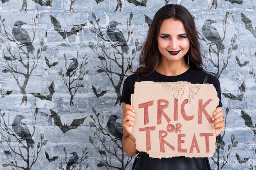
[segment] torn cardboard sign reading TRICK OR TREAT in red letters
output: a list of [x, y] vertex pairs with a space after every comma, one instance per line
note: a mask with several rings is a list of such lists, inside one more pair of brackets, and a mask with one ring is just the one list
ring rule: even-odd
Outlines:
[[216, 133], [212, 116], [219, 104], [212, 84], [135, 83], [131, 96], [136, 149], [150, 157], [211, 157]]

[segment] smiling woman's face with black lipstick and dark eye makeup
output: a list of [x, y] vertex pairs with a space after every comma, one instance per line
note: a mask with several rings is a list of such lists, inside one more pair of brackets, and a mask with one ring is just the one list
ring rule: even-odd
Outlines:
[[157, 44], [161, 62], [185, 62], [184, 55], [189, 51], [190, 43], [183, 22], [172, 18], [163, 20]]

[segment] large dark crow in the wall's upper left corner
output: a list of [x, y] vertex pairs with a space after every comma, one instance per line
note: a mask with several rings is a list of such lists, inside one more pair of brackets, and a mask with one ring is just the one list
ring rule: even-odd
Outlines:
[[35, 48], [31, 42], [29, 34], [24, 28], [21, 28], [21, 26], [24, 24], [26, 23], [20, 20], [16, 21], [12, 28], [12, 35], [18, 42], [20, 42], [22, 45], [25, 45], [27, 47], [28, 53], [34, 54]]

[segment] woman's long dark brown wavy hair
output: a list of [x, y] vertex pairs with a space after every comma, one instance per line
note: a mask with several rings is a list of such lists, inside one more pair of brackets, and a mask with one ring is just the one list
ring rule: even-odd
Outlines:
[[[198, 42], [197, 31], [193, 17], [182, 5], [168, 4], [159, 9], [157, 13], [155, 13], [153, 21], [148, 30], [146, 41], [144, 42], [141, 53], [139, 55], [140, 67], [135, 71], [135, 73], [149, 75], [155, 71], [161, 57], [161, 53], [159, 52], [157, 45], [157, 36], [159, 34], [162, 21], [169, 18], [183, 22], [186, 34], [188, 35], [190, 41], [188, 52], [189, 65], [198, 70], [202, 70], [200, 44]], [[186, 56], [185, 61], [188, 62]]]

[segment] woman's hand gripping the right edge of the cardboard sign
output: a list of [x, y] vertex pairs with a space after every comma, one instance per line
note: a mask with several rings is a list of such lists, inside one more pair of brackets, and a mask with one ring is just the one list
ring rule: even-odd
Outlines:
[[221, 131], [225, 128], [222, 107], [217, 107], [213, 113], [212, 125], [215, 128], [216, 136], [220, 135]]

